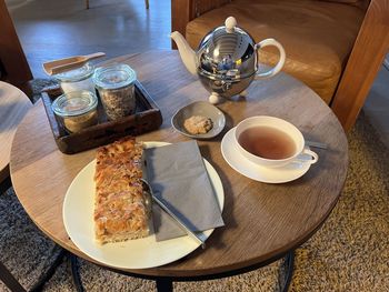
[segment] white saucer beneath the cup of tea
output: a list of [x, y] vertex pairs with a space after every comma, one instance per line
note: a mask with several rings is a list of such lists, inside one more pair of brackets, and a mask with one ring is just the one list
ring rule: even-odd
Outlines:
[[285, 168], [271, 169], [260, 167], [249, 161], [238, 150], [238, 145], [233, 138], [235, 130], [236, 128], [229, 130], [221, 140], [221, 153], [228, 164], [240, 174], [260, 182], [282, 183], [296, 180], [309, 170], [311, 165], [309, 163], [293, 162]]

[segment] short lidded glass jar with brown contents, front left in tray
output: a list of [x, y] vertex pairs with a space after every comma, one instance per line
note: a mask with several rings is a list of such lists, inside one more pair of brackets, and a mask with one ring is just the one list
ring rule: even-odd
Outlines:
[[72, 91], [58, 97], [51, 104], [61, 124], [70, 132], [98, 123], [98, 99], [91, 91]]

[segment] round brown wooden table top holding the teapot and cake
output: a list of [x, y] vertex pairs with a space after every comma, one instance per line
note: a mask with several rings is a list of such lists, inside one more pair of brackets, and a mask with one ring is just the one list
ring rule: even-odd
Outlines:
[[[139, 81], [161, 109], [161, 128], [138, 139], [188, 140], [173, 130], [170, 119], [190, 102], [207, 101], [209, 93], [186, 71], [178, 52], [147, 52], [111, 61], [134, 68]], [[308, 240], [329, 215], [343, 188], [349, 160], [347, 139], [336, 115], [313, 91], [285, 73], [252, 82], [248, 93], [246, 100], [219, 104], [227, 118], [225, 130], [212, 140], [198, 141], [202, 155], [223, 183], [226, 226], [215, 230], [206, 250], [198, 249], [160, 268], [128, 272], [196, 276], [266, 263]], [[292, 122], [306, 139], [325, 142], [329, 149], [316, 149], [319, 162], [289, 183], [267, 184], [239, 174], [222, 158], [220, 141], [239, 121], [261, 114]], [[64, 230], [62, 202], [69, 184], [94, 159], [94, 150], [72, 155], [61, 153], [41, 102], [19, 125], [11, 151], [11, 178], [27, 213], [53, 241], [84, 259], [89, 258], [71, 242]]]

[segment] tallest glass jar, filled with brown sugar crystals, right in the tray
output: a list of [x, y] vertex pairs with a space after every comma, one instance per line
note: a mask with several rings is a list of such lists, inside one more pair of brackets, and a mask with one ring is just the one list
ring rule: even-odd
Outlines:
[[114, 64], [96, 70], [93, 82], [110, 121], [119, 120], [136, 111], [136, 71], [127, 64]]

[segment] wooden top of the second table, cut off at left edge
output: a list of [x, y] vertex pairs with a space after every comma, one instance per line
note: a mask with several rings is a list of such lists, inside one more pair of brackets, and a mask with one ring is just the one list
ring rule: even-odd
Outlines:
[[13, 135], [30, 108], [32, 103], [24, 92], [0, 81], [0, 182], [9, 175]]

